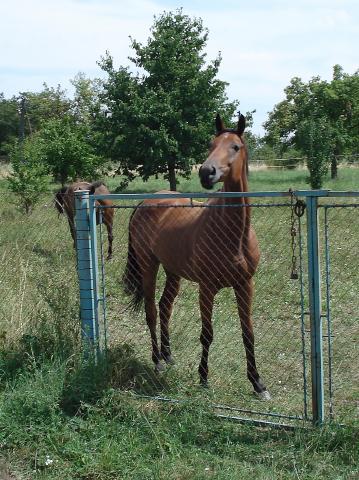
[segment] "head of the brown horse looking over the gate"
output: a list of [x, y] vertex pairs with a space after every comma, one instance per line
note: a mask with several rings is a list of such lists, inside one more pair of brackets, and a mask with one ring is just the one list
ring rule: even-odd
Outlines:
[[246, 171], [247, 150], [242, 139], [245, 118], [240, 114], [236, 129], [227, 129], [219, 114], [216, 117], [217, 134], [211, 142], [207, 160], [199, 169], [204, 188], [212, 188], [217, 182], [230, 176], [240, 177]]

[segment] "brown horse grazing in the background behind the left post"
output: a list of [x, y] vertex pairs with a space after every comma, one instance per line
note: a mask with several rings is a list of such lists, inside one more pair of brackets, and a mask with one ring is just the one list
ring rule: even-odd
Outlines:
[[[55, 195], [55, 207], [60, 214], [66, 214], [67, 220], [69, 222], [70, 232], [72, 239], [74, 241], [74, 247], [76, 247], [76, 230], [75, 230], [75, 192], [79, 190], [89, 190], [90, 195], [104, 195], [110, 193], [108, 188], [103, 182], [76, 182], [68, 185], [67, 187], [61, 188]], [[96, 205], [102, 205], [105, 207], [111, 207], [113, 205], [111, 200], [99, 200], [96, 201]], [[113, 227], [113, 208], [104, 208], [103, 209], [103, 223], [107, 228], [107, 238], [108, 238], [108, 252], [107, 260], [112, 258], [112, 227]], [[99, 223], [99, 215], [96, 216], [96, 222]]]

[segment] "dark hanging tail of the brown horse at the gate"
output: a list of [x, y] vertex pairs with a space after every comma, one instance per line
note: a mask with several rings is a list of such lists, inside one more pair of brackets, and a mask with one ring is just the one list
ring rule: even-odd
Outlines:
[[[131, 225], [132, 217], [135, 212], [136, 210], [134, 210], [131, 215], [129, 225]], [[142, 271], [138, 263], [136, 251], [133, 247], [131, 232], [128, 234], [127, 263], [122, 277], [122, 285], [125, 294], [131, 297], [130, 308], [135, 312], [138, 312], [142, 307], [144, 292], [142, 285]]]

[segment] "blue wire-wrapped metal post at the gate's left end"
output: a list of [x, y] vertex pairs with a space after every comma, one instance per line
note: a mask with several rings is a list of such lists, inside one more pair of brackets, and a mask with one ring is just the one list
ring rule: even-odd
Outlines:
[[98, 353], [97, 285], [93, 266], [89, 205], [88, 190], [75, 192], [77, 271], [80, 286], [82, 339], [85, 355], [94, 355], [96, 359]]

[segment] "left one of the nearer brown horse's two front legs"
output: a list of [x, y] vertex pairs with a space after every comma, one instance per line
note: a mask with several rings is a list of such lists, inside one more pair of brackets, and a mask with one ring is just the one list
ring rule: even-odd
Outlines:
[[202, 331], [200, 341], [202, 344], [201, 363], [198, 367], [201, 385], [206, 386], [208, 381], [208, 353], [213, 341], [212, 311], [214, 296], [217, 292], [204, 285], [199, 287], [199, 306], [201, 311]]

